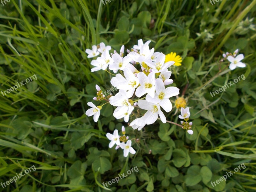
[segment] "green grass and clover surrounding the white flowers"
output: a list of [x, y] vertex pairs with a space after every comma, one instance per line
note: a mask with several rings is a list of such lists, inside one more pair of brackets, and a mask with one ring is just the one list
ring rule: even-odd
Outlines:
[[[0, 4], [0, 91], [37, 76], [17, 91], [0, 94], [0, 183], [36, 167], [0, 191], [106, 191], [102, 182], [135, 166], [139, 172], [109, 189], [255, 191], [256, 35], [246, 25], [239, 27], [247, 17], [255, 17], [255, 4], [256, 0], [214, 5], [204, 0]], [[131, 49], [140, 38], [151, 40], [150, 47], [158, 52], [182, 57], [182, 66], [172, 67], [171, 77], [191, 108], [192, 136], [160, 121], [146, 126], [146, 131], [133, 130], [116, 120], [107, 105], [98, 123], [85, 115], [95, 84], [105, 90], [112, 86], [110, 74], [91, 72], [85, 49], [104, 42], [112, 46], [111, 52], [118, 52], [123, 44]], [[228, 62], [219, 62], [222, 53], [237, 48], [246, 68], [226, 70]], [[242, 74], [244, 81], [211, 97], [210, 91]], [[175, 108], [165, 114], [167, 120], [179, 123], [179, 112], [174, 113]], [[126, 159], [122, 151], [108, 148], [105, 137], [115, 128], [120, 131], [122, 124], [131, 139], [139, 139], [133, 145], [136, 154]], [[215, 181], [242, 163], [246, 168], [229, 177], [225, 186], [221, 182], [211, 188], [207, 178]], [[196, 179], [200, 181], [192, 185]]]

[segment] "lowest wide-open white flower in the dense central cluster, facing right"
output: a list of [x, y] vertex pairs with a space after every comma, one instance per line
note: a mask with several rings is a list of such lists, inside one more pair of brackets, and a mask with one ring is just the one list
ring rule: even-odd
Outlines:
[[148, 110], [143, 115], [143, 121], [146, 122], [147, 125], [153, 124], [156, 122], [158, 115], [163, 123], [166, 123], [166, 117], [164, 113], [161, 111], [160, 106], [155, 103], [148, 102], [146, 100], [139, 100], [138, 106], [142, 109]]

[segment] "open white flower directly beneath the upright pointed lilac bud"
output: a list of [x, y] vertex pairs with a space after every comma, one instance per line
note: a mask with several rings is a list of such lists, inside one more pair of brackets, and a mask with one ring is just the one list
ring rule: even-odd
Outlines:
[[109, 65], [110, 70], [120, 69], [123, 71], [128, 65], [132, 65], [130, 64], [132, 59], [129, 56], [125, 56], [124, 58], [122, 58], [119, 54], [115, 53], [112, 55], [112, 59], [114, 60], [114, 63], [111, 63]]

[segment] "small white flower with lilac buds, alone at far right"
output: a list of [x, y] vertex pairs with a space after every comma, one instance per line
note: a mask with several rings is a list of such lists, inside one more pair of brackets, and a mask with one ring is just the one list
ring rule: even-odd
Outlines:
[[231, 62], [229, 65], [229, 68], [231, 70], [234, 70], [237, 67], [244, 68], [246, 65], [241, 62], [241, 60], [244, 59], [244, 55], [243, 54], [237, 55], [237, 53], [238, 53], [238, 49], [236, 49], [236, 51], [233, 54], [229, 52], [223, 53], [222, 56], [224, 59], [220, 61], [224, 61], [225, 59], [227, 59], [229, 62]]

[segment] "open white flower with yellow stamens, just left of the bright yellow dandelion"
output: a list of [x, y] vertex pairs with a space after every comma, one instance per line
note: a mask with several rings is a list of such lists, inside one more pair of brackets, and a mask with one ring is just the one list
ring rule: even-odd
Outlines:
[[152, 62], [150, 60], [145, 61], [145, 63], [152, 68], [152, 71], [154, 73], [160, 73], [162, 71], [165, 71], [168, 67], [173, 65], [174, 61], [168, 61], [164, 63], [165, 55], [164, 53], [160, 53], [158, 57], [156, 58], [156, 62]]

